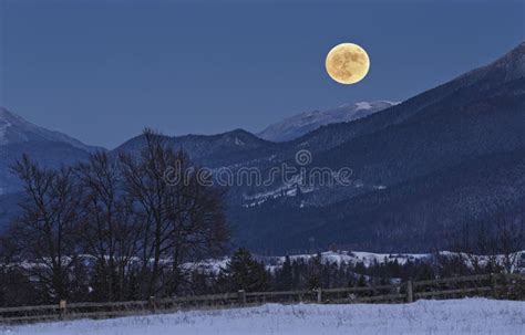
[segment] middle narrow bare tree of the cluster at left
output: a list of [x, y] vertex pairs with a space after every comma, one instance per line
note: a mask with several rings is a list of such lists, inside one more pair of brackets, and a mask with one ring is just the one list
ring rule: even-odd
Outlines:
[[84, 250], [96, 260], [97, 279], [105, 286], [102, 295], [107, 301], [122, 300], [141, 228], [123, 192], [117, 161], [103, 151], [92, 154], [87, 163], [78, 165], [75, 175], [82, 188]]

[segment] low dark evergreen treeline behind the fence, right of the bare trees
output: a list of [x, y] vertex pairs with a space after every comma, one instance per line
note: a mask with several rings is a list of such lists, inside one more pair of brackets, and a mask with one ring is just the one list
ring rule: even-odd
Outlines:
[[[506, 263], [507, 259], [512, 260], [512, 265]], [[507, 271], [508, 265], [511, 271]], [[408, 280], [517, 273], [522, 269], [525, 269], [525, 259], [519, 253], [475, 259], [475, 255], [463, 253], [435, 252], [423, 259], [399, 262], [395, 258], [384, 258], [368, 264], [323, 260], [322, 254], [318, 253], [302, 258], [285, 257], [282, 262], [271, 264], [271, 261], [257, 261], [247, 249], [240, 248], [218, 271], [198, 266], [192, 270], [186, 294], [389, 285]]]

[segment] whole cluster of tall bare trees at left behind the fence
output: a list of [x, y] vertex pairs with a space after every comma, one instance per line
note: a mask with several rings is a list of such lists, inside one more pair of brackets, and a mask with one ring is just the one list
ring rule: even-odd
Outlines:
[[184, 262], [224, 253], [224, 190], [204, 186], [210, 176], [174, 180], [192, 171], [185, 153], [148, 129], [143, 139], [140, 155], [61, 169], [16, 161], [24, 198], [0, 244], [4, 303], [169, 296], [188, 280]]

